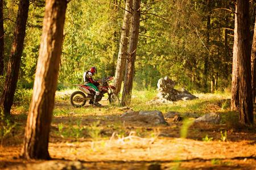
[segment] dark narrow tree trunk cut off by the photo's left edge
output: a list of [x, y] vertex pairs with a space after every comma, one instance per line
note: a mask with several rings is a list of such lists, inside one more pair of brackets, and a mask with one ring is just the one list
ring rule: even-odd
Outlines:
[[3, 75], [3, 52], [5, 50], [5, 41], [3, 38], [3, 0], [0, 0], [0, 76]]

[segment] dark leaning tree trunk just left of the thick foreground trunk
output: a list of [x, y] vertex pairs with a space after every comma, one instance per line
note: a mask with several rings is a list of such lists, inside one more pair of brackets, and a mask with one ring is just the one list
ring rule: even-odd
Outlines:
[[26, 32], [29, 5], [29, 0], [19, 1], [19, 9], [13, 35], [13, 45], [11, 46], [5, 85], [0, 99], [0, 105], [3, 106], [5, 115], [10, 114], [11, 106], [13, 105], [14, 92], [18, 81], [20, 58], [22, 56], [23, 42]]

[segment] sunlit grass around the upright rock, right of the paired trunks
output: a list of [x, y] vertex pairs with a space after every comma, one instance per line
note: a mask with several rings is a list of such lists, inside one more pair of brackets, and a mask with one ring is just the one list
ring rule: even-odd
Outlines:
[[[154, 111], [158, 110], [163, 113], [169, 111], [176, 112], [189, 112], [189, 113], [197, 113], [199, 115], [209, 113], [210, 107], [221, 105], [221, 100], [230, 99], [230, 93], [225, 92], [216, 92], [214, 94], [193, 94], [198, 99], [195, 100], [186, 100], [186, 101], [174, 101], [171, 104], [152, 104], [148, 103], [148, 101], [152, 100], [158, 92], [156, 90], [153, 91], [133, 91], [133, 95], [131, 97], [130, 107], [134, 109], [134, 111]], [[210, 106], [210, 107], [209, 107]], [[225, 105], [225, 109], [229, 109], [228, 103]]]

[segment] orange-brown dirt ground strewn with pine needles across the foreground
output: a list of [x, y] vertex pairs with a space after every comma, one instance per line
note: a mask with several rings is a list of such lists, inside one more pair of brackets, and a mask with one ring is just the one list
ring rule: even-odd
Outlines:
[[[166, 120], [168, 125], [152, 125], [120, 120], [119, 115], [129, 108], [109, 108], [101, 113], [102, 108], [85, 107], [97, 112], [79, 114], [67, 101], [56, 102], [56, 108], [69, 108], [69, 113], [53, 117], [48, 147], [52, 160], [21, 159], [24, 135], [20, 133], [3, 142], [0, 169], [36, 169], [46, 162], [71, 161], [90, 170], [256, 169], [255, 126], [193, 124], [186, 128], [187, 124], [171, 118]], [[13, 110], [12, 114], [20, 113]], [[26, 117], [22, 124], [26, 125]], [[186, 138], [181, 138], [184, 134]]]

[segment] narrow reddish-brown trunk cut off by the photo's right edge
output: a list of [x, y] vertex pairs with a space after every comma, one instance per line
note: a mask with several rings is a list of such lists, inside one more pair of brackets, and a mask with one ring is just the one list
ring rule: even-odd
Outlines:
[[251, 46], [251, 88], [253, 101], [256, 97], [256, 19], [254, 24], [253, 45]]

